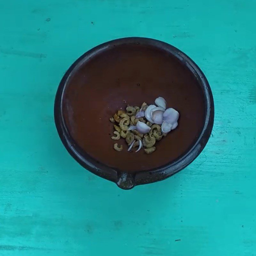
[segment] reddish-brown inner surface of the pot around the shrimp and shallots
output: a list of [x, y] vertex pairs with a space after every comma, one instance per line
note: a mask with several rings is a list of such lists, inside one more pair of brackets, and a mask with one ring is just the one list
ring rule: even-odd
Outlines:
[[[109, 117], [127, 104], [154, 104], [162, 96], [180, 113], [178, 127], [147, 155], [127, 151], [124, 139], [111, 140]], [[127, 103], [124, 103], [124, 100]], [[80, 148], [97, 161], [125, 172], [163, 166], [182, 156], [196, 141], [205, 120], [203, 91], [191, 71], [171, 54], [152, 46], [124, 44], [101, 52], [68, 80], [62, 111]], [[123, 151], [113, 149], [121, 143]]]

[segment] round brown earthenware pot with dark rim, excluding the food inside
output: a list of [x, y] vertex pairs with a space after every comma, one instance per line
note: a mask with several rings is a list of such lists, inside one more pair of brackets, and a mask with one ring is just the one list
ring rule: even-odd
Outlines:
[[[154, 104], [162, 96], [180, 113], [178, 127], [150, 155], [113, 149], [109, 117], [127, 104]], [[164, 180], [190, 164], [213, 126], [211, 88], [193, 60], [174, 46], [129, 37], [100, 44], [78, 58], [63, 76], [54, 103], [60, 139], [85, 169], [120, 188]]]

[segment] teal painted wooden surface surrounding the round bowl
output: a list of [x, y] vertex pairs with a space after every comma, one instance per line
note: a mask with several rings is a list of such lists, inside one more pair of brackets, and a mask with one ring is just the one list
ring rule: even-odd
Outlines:
[[[256, 255], [255, 10], [254, 0], [2, 0], [0, 255]], [[125, 36], [186, 52], [215, 100], [196, 161], [130, 191], [80, 167], [53, 121], [71, 63]]]

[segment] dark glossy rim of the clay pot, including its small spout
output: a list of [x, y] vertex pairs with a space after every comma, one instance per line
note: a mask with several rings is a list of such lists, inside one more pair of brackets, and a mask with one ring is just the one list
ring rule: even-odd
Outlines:
[[[176, 58], [178, 58], [184, 65], [186, 65], [194, 74], [194, 76], [196, 77], [196, 79], [198, 80], [199, 84], [203, 89], [205, 98], [205, 123], [202, 132], [198, 137], [197, 141], [194, 143], [194, 145], [187, 152], [185, 152], [184, 155], [180, 156], [172, 163], [166, 164], [159, 168], [137, 172], [135, 174], [129, 174], [124, 171], [114, 170], [113, 168], [95, 160], [86, 152], [84, 152], [81, 148], [79, 148], [68, 132], [68, 129], [64, 122], [61, 108], [62, 95], [69, 77], [72, 76], [76, 72], [76, 70], [81, 65], [83, 65], [83, 63], [89, 58], [92, 58], [94, 55], [106, 50], [109, 47], [114, 47], [120, 44], [147, 44], [161, 48], [167, 51], [168, 53], [171, 53]], [[55, 125], [59, 133], [60, 139], [65, 148], [68, 150], [69, 154], [85, 169], [102, 178], [115, 182], [120, 188], [123, 189], [130, 189], [136, 185], [164, 180], [172, 176], [173, 174], [179, 172], [180, 170], [184, 169], [188, 164], [194, 161], [196, 157], [204, 149], [212, 132], [213, 120], [214, 103], [212, 91], [202, 70], [184, 52], [181, 52], [176, 47], [156, 39], [145, 37], [126, 37], [115, 39], [100, 44], [92, 48], [88, 52], [85, 52], [70, 66], [70, 68], [67, 70], [67, 72], [61, 79], [54, 102]]]

